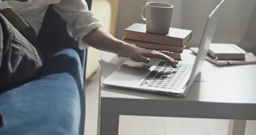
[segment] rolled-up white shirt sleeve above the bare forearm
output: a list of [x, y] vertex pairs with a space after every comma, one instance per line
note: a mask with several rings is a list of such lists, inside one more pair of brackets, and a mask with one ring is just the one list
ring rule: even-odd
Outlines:
[[93, 29], [102, 27], [100, 21], [88, 10], [85, 0], [61, 0], [53, 5], [54, 10], [67, 23], [69, 35], [78, 41], [79, 48], [87, 48], [82, 38]]

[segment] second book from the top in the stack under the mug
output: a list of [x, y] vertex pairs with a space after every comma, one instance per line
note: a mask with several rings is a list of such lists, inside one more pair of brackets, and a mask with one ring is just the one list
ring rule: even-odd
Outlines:
[[183, 49], [185, 48], [185, 45], [183, 47], [177, 47], [177, 46], [163, 45], [163, 44], [151, 43], [151, 42], [141, 42], [141, 41], [125, 39], [125, 38], [123, 39], [123, 41], [130, 44], [135, 44], [136, 46], [141, 48], [148, 48], [148, 49], [154, 49], [154, 50], [182, 52]]

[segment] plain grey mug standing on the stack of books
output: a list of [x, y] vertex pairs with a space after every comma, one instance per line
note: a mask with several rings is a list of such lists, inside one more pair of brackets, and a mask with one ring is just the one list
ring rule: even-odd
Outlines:
[[[167, 3], [148, 2], [141, 7], [141, 19], [146, 21], [148, 32], [166, 34], [171, 26], [173, 5]], [[146, 17], [143, 16], [143, 9], [146, 9]]]

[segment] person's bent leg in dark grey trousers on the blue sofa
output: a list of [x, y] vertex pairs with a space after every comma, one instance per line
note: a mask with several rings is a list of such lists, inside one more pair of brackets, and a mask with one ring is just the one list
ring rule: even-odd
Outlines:
[[[42, 66], [36, 48], [0, 14], [0, 94], [3, 86], [36, 77]], [[0, 127], [3, 124], [0, 113]]]

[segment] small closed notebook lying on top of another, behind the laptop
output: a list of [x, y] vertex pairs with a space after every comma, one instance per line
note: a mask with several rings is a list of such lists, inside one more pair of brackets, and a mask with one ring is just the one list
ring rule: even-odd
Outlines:
[[210, 44], [208, 54], [218, 59], [244, 59], [246, 51], [234, 44]]

